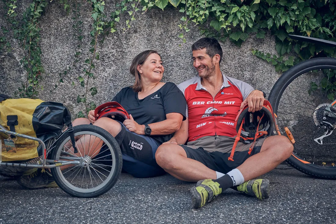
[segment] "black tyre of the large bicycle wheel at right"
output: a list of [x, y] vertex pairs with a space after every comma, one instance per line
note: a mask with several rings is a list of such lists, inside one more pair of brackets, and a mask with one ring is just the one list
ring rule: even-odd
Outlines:
[[[314, 58], [301, 62], [290, 68], [277, 80], [268, 97], [275, 114], [278, 114], [279, 102], [287, 86], [298, 76], [317, 69], [336, 69], [336, 59]], [[286, 161], [298, 171], [309, 176], [321, 179], [336, 179], [336, 167], [334, 166], [307, 163], [307, 161], [296, 155], [295, 152]]]

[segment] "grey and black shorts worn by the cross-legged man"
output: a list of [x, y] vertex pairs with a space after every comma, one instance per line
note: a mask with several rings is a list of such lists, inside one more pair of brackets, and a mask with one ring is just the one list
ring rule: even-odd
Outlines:
[[188, 158], [197, 160], [209, 169], [226, 174], [240, 166], [246, 159], [260, 152], [261, 146], [266, 138], [255, 142], [251, 154], [248, 154], [252, 144], [238, 142], [233, 156], [234, 161], [228, 160], [235, 137], [226, 136], [205, 136], [196, 141], [181, 145]]

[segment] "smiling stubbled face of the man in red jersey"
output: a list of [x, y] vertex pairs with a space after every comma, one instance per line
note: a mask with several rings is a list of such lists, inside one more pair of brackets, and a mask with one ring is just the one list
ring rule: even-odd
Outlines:
[[201, 78], [208, 78], [215, 74], [215, 65], [206, 50], [206, 48], [193, 50], [194, 67]]

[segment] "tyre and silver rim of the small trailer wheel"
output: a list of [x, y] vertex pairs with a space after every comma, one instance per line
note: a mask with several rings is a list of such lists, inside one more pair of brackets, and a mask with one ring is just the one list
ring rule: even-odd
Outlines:
[[[110, 173], [110, 175], [107, 177], [106, 180], [103, 181], [102, 184], [98, 185], [95, 188], [92, 188], [91, 190], [88, 190], [85, 188], [79, 188], [79, 187], [75, 187], [71, 185], [71, 183], [69, 183], [69, 181], [67, 181], [65, 177], [63, 176], [62, 171], [61, 171], [61, 166], [51, 169], [52, 176], [54, 177], [56, 184], [62, 190], [64, 190], [66, 193], [72, 196], [83, 197], [83, 198], [98, 197], [106, 193], [107, 191], [109, 191], [115, 185], [115, 183], [117, 182], [120, 176], [121, 169], [122, 169], [122, 154], [121, 154], [120, 147], [117, 141], [113, 138], [113, 136], [101, 127], [84, 124], [84, 125], [74, 126], [73, 129], [74, 129], [75, 136], [84, 135], [84, 134], [88, 135], [89, 133], [91, 133], [93, 136], [98, 136], [101, 140], [106, 141], [105, 143], [111, 152], [112, 158], [114, 158], [113, 163], [115, 165], [113, 167], [115, 167], [115, 169], [113, 171], [113, 174], [111, 175]], [[62, 151], [64, 145], [68, 141], [71, 141], [70, 135], [68, 132], [65, 132], [57, 140], [56, 147], [53, 148], [53, 150], [51, 151], [51, 158], [53, 160], [59, 160], [60, 152]], [[90, 173], [90, 178], [91, 178], [91, 173]], [[83, 179], [84, 179], [84, 176], [83, 176]], [[93, 184], [92, 184], [92, 187], [93, 187]]]

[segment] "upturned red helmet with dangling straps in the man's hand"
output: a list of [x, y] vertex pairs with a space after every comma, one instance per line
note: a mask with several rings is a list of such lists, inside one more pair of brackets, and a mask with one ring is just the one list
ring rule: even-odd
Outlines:
[[[249, 154], [253, 149], [256, 140], [271, 136], [275, 132], [275, 122], [273, 109], [269, 101], [265, 100], [261, 110], [249, 112], [249, 106], [239, 111], [236, 117], [237, 136], [228, 160], [233, 160], [233, 155], [238, 141], [244, 144], [253, 143], [249, 149]], [[276, 134], [276, 133], [274, 133]]]

